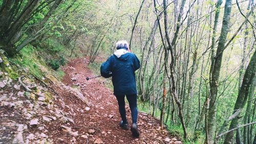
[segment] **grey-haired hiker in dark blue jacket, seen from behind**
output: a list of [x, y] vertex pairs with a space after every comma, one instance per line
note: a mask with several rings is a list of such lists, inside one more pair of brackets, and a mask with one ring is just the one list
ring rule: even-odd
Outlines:
[[138, 137], [135, 71], [140, 68], [140, 61], [135, 54], [131, 53], [126, 40], [118, 41], [116, 49], [117, 51], [114, 55], [111, 55], [106, 62], [101, 64], [100, 73], [104, 78], [112, 77], [114, 95], [118, 101], [119, 112], [122, 118], [119, 126], [122, 129], [129, 129], [124, 107], [124, 97], [126, 95], [132, 113], [131, 131], [134, 137]]

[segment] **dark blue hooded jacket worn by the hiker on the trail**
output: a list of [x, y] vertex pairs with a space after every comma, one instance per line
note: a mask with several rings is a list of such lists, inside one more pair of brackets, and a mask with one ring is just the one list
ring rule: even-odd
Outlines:
[[114, 95], [137, 94], [135, 71], [140, 68], [140, 61], [135, 54], [126, 50], [111, 55], [100, 66], [101, 76], [112, 76]]

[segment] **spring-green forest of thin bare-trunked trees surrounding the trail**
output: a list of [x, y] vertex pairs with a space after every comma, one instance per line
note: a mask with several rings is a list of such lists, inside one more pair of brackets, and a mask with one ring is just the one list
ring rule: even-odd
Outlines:
[[179, 129], [193, 143], [255, 143], [255, 6], [253, 0], [0, 0], [0, 49], [15, 57], [32, 45], [46, 61], [59, 58], [49, 62], [58, 69], [77, 51], [90, 63], [106, 59], [126, 39], [141, 62], [138, 99], [162, 127]]

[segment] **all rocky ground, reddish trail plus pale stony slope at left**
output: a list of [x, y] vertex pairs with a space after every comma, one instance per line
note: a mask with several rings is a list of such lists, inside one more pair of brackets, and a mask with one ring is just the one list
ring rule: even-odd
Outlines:
[[[119, 128], [113, 91], [104, 79], [86, 80], [94, 76], [87, 64], [71, 61], [62, 82], [49, 75], [12, 81], [0, 72], [0, 143], [182, 143], [146, 113], [138, 116], [139, 138]], [[129, 107], [126, 112], [131, 122]]]

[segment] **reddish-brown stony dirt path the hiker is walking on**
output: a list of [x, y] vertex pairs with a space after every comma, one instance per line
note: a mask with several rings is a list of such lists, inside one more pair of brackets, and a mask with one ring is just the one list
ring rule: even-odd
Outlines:
[[[102, 79], [86, 80], [93, 74], [87, 68], [88, 59], [77, 59], [70, 62], [63, 70], [65, 77], [63, 83], [71, 87], [77, 87], [87, 97], [91, 103], [90, 110], [87, 111], [84, 103], [67, 93], [62, 93], [62, 98], [56, 101], [56, 105], [62, 106], [65, 112], [71, 113], [74, 124], [69, 127], [78, 131], [79, 136], [73, 137], [66, 132], [54, 128], [58, 124], [53, 124], [53, 133], [59, 138], [54, 138], [56, 143], [179, 143], [176, 138], [168, 134], [166, 130], [160, 130], [159, 121], [146, 113], [139, 112], [138, 126], [140, 137], [133, 138], [130, 130], [119, 128], [120, 115], [118, 105], [113, 95], [113, 91], [106, 88]], [[73, 80], [71, 80], [73, 79]], [[66, 95], [66, 96], [65, 96]], [[88, 109], [88, 108], [87, 108]], [[71, 111], [71, 112], [70, 112]], [[131, 112], [126, 106], [127, 119], [131, 123]], [[55, 132], [54, 132], [55, 131]], [[55, 137], [54, 136], [54, 137]], [[168, 142], [169, 140], [169, 142]]]

